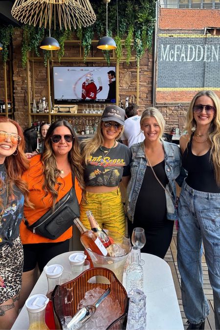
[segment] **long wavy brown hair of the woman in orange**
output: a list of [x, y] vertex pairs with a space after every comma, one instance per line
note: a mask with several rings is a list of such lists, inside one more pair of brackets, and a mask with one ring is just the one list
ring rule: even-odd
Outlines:
[[51, 124], [46, 133], [44, 139], [44, 152], [41, 156], [44, 172], [43, 188], [45, 190], [45, 196], [48, 195], [48, 192], [52, 194], [53, 208], [58, 197], [58, 191], [54, 189], [54, 186], [55, 184], [57, 184], [57, 178], [61, 174], [61, 171], [57, 168], [56, 157], [52, 149], [51, 136], [53, 135], [54, 130], [60, 126], [66, 126], [71, 132], [71, 134], [74, 136], [72, 148], [68, 153], [68, 161], [70, 163], [73, 174], [77, 177], [80, 187], [84, 189], [82, 156], [80, 154], [80, 148], [76, 133], [74, 132], [72, 126], [67, 120], [57, 120], [53, 124]]

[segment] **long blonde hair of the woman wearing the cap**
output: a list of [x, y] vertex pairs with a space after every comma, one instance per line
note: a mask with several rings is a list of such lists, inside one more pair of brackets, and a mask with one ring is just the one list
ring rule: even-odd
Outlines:
[[[98, 127], [94, 136], [90, 139], [85, 139], [84, 141], [81, 142], [84, 165], [87, 165], [89, 156], [93, 154], [99, 148], [99, 146], [103, 146], [104, 144], [104, 136], [102, 133], [101, 126], [102, 126], [102, 120], [100, 120], [100, 122], [98, 123]], [[121, 132], [118, 134], [115, 141], [120, 138], [123, 132], [124, 132], [124, 126], [122, 126]]]

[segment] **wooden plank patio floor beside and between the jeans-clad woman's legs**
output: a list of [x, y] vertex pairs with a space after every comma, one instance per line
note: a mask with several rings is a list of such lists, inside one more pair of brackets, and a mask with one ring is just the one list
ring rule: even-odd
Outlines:
[[[169, 264], [172, 274], [173, 274], [174, 284], [175, 284], [175, 288], [176, 288], [176, 295], [177, 295], [177, 299], [179, 302], [179, 309], [180, 309], [180, 312], [182, 315], [184, 329], [186, 329], [188, 327], [188, 325], [187, 325], [187, 318], [185, 316], [185, 313], [183, 311], [183, 306], [182, 306], [181, 289], [180, 289], [180, 275], [179, 275], [179, 271], [178, 271], [178, 267], [177, 267], [176, 253], [177, 253], [176, 230], [174, 230], [172, 242], [171, 242], [171, 245], [169, 247], [169, 250], [167, 251], [167, 254], [166, 254], [164, 260]], [[208, 299], [208, 302], [210, 305], [210, 314], [206, 319], [205, 329], [215, 329], [213, 293], [212, 293], [212, 287], [209, 282], [208, 267], [205, 262], [204, 254], [202, 257], [202, 270], [203, 270], [203, 288], [204, 288], [206, 298]]]

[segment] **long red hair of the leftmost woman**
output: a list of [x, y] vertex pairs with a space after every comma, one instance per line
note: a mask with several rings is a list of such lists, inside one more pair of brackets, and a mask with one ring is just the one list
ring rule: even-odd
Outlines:
[[[13, 194], [13, 184], [15, 184], [24, 195], [24, 205], [33, 207], [33, 204], [28, 198], [28, 185], [22, 180], [22, 174], [29, 168], [29, 160], [24, 154], [24, 137], [21, 126], [14, 120], [6, 117], [0, 117], [0, 123], [12, 123], [18, 130], [18, 135], [21, 137], [21, 142], [17, 146], [18, 154], [11, 154], [5, 158], [4, 164], [8, 177], [9, 196]], [[0, 182], [2, 188], [3, 182]], [[0, 198], [0, 205], [2, 206], [2, 199]]]

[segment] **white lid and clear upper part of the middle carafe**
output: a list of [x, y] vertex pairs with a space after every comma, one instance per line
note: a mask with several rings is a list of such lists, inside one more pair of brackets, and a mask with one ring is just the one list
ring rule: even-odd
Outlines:
[[51, 264], [44, 267], [48, 282], [48, 291], [46, 296], [50, 298], [51, 293], [56, 285], [61, 284], [61, 277], [63, 274], [64, 267], [61, 264]]

